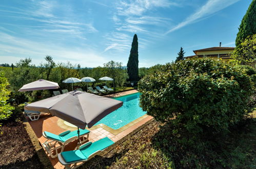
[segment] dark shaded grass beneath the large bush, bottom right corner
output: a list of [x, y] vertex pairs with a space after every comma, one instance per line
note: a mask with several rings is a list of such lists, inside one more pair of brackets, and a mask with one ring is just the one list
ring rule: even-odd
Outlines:
[[[163, 124], [152, 145], [173, 160], [176, 168], [253, 168], [256, 166], [256, 118], [247, 118], [223, 136], [204, 136], [188, 143], [186, 133], [171, 133]], [[193, 146], [191, 146], [193, 145]]]

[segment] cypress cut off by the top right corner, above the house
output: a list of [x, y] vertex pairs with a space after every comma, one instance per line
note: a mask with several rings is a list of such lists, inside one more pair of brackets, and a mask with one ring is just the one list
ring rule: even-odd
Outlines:
[[235, 46], [240, 48], [243, 40], [249, 36], [256, 33], [256, 0], [252, 0], [246, 14], [244, 15], [241, 25], [239, 27], [239, 32], [237, 34], [237, 39], [235, 39]]

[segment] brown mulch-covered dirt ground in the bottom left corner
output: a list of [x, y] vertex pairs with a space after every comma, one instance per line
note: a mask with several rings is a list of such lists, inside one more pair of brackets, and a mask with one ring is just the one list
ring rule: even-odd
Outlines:
[[9, 122], [0, 129], [0, 168], [43, 168], [22, 122]]

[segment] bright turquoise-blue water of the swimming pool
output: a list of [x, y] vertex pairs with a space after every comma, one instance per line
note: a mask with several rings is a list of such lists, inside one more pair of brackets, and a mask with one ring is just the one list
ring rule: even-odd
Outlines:
[[146, 114], [146, 112], [139, 106], [140, 93], [134, 93], [114, 99], [123, 101], [123, 106], [105, 116], [95, 125], [103, 123], [116, 130]]

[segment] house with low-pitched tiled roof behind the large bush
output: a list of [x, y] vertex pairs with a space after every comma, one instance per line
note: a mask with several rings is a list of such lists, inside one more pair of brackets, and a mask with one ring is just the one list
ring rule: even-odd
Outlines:
[[234, 51], [234, 47], [211, 47], [211, 48], [205, 48], [205, 49], [199, 49], [199, 50], [193, 50], [195, 55], [187, 56], [186, 59], [189, 58], [202, 58], [202, 57], [210, 57], [213, 59], [223, 59], [224, 61], [228, 61], [230, 59], [231, 53]]

